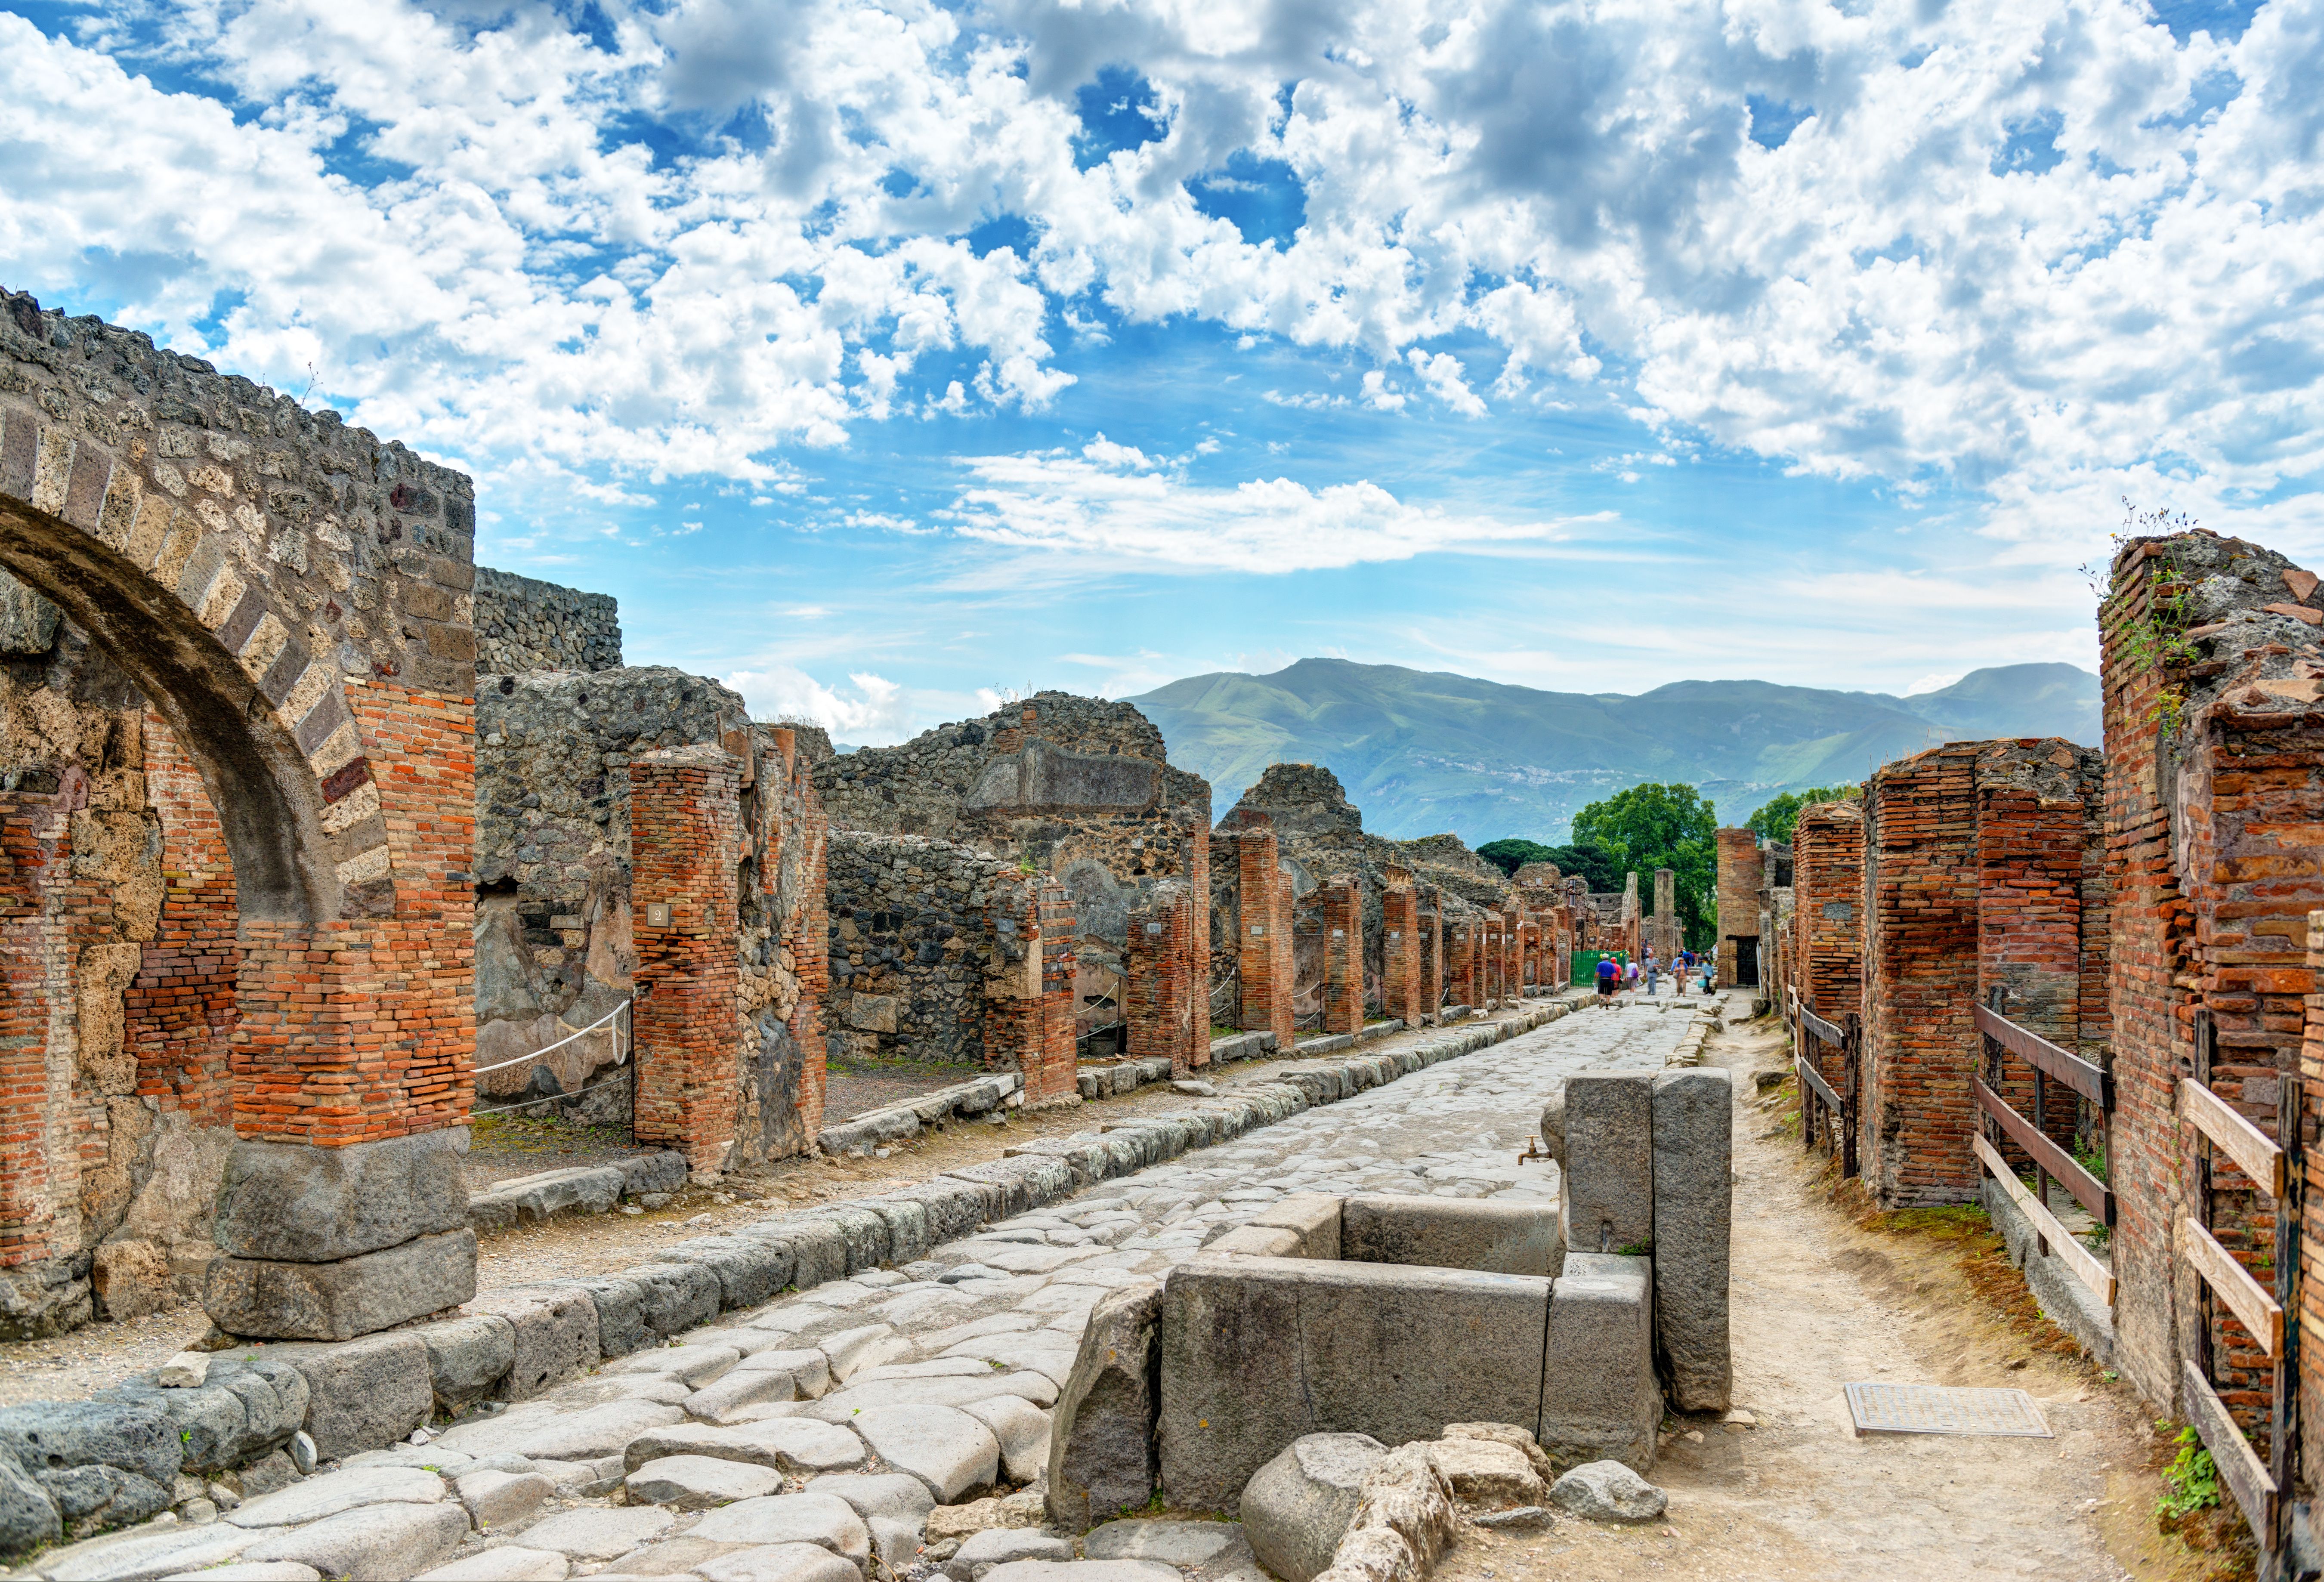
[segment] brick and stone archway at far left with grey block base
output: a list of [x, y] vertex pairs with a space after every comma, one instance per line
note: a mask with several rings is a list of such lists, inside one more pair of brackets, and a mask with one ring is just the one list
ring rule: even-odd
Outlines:
[[[474, 1289], [472, 544], [465, 476], [0, 293], [0, 567], [144, 692], [232, 869], [237, 1141], [205, 1292], [230, 1333], [360, 1333]], [[65, 799], [30, 808], [51, 846]], [[21, 846], [37, 890], [60, 866]], [[33, 901], [12, 983], [79, 1038], [77, 901]]]

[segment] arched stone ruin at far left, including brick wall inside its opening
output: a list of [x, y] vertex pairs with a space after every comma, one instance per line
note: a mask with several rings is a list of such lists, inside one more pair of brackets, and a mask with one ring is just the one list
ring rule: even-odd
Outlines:
[[[0, 792], [5, 1124], [37, 1141], [0, 1178], [14, 1333], [77, 1322], [100, 1259], [123, 1303], [200, 1266], [211, 1317], [256, 1336], [393, 1324], [474, 1285], [442, 1164], [474, 1027], [472, 541], [465, 476], [0, 293], [0, 571], [26, 590], [5, 646], [86, 646], [119, 678], [74, 702], [12, 667], [46, 718]], [[186, 864], [174, 911], [163, 864]], [[151, 1182], [200, 1192], [209, 1168], [200, 1264], [200, 1215], [156, 1215]], [[105, 1254], [121, 1229], [144, 1252]]]

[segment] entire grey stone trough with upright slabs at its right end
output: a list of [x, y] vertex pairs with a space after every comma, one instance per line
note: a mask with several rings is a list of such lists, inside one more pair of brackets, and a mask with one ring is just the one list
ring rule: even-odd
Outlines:
[[1559, 1466], [1650, 1470], [1666, 1392], [1727, 1408], [1729, 1117], [1724, 1071], [1578, 1073], [1543, 1117], [1555, 1210], [1292, 1196], [1118, 1292], [1057, 1403], [1053, 1519], [1088, 1526], [1155, 1484], [1234, 1512], [1311, 1433], [1394, 1447], [1515, 1424]]

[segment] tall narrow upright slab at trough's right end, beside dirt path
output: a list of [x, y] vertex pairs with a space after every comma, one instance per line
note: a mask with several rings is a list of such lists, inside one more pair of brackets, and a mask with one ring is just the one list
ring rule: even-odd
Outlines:
[[1697, 1066], [1655, 1078], [1655, 1352], [1683, 1412], [1724, 1412], [1734, 1087]]

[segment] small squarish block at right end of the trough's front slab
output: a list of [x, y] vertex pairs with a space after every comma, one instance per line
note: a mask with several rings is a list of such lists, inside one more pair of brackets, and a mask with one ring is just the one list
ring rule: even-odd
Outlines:
[[1608, 1459], [1638, 1473], [1655, 1466], [1662, 1392], [1655, 1387], [1652, 1280], [1652, 1264], [1641, 1257], [1566, 1254], [1566, 1273], [1550, 1294], [1534, 1436], [1559, 1466]]

